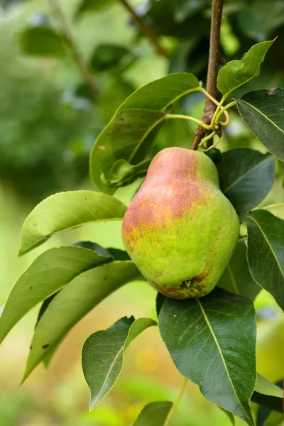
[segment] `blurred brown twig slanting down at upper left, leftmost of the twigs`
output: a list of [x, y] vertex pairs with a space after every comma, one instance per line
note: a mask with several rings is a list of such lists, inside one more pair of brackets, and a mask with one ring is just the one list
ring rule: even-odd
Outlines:
[[97, 95], [99, 94], [99, 90], [94, 83], [94, 77], [92, 75], [91, 70], [87, 63], [84, 61], [82, 54], [80, 53], [79, 48], [75, 42], [75, 39], [72, 35], [72, 31], [70, 26], [68, 25], [65, 15], [60, 8], [60, 4], [58, 0], [48, 0], [50, 5], [51, 13], [55, 18], [55, 21], [58, 23], [58, 28], [60, 29], [60, 35], [62, 40], [65, 42], [68, 50], [70, 51], [70, 55], [72, 56], [75, 64], [77, 65], [78, 70], [81, 72], [81, 75], [84, 79], [85, 84], [89, 87], [89, 91], [92, 94], [94, 99], [97, 99]]

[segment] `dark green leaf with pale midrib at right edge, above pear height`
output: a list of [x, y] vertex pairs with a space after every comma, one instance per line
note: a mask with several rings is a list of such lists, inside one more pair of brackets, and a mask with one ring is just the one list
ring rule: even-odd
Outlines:
[[241, 118], [256, 138], [284, 161], [284, 89], [247, 93], [237, 105]]

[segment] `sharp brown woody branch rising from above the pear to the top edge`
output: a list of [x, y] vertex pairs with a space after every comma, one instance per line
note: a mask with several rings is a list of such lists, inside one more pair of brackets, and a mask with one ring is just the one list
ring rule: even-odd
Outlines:
[[[213, 0], [212, 1], [212, 14], [211, 14], [211, 28], [210, 28], [210, 48], [209, 48], [209, 60], [207, 70], [207, 92], [212, 97], [217, 99], [217, 75], [218, 66], [220, 61], [220, 28], [222, 21], [222, 9], [224, 0]], [[206, 98], [204, 115], [202, 121], [206, 124], [210, 124], [216, 105]], [[197, 149], [200, 140], [206, 135], [208, 131], [202, 127], [198, 127], [195, 131], [195, 137], [192, 142], [191, 149]], [[213, 139], [208, 141], [207, 146], [212, 145]]]

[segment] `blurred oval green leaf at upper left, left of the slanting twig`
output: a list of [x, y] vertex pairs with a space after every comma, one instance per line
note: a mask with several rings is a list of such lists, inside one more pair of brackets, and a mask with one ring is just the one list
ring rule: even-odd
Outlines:
[[31, 26], [20, 34], [21, 49], [26, 55], [62, 58], [65, 46], [53, 28], [45, 25]]

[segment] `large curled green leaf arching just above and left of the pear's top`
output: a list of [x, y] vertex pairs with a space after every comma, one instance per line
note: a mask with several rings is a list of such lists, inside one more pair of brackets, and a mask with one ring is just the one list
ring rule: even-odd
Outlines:
[[131, 169], [131, 165], [143, 165], [155, 134], [153, 129], [158, 129], [160, 121], [165, 119], [165, 111], [180, 97], [198, 87], [199, 82], [194, 75], [181, 72], [167, 75], [133, 92], [94, 143], [89, 159], [94, 185], [111, 194], [115, 186], [129, 183], [123, 175], [119, 175], [120, 180], [111, 175], [112, 167], [114, 172], [121, 166], [116, 163], [118, 160], [126, 161], [127, 177], [133, 180], [137, 170]]

